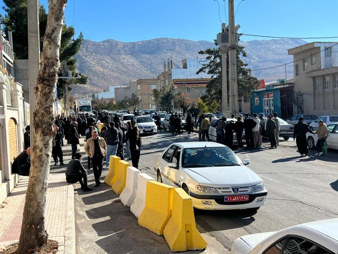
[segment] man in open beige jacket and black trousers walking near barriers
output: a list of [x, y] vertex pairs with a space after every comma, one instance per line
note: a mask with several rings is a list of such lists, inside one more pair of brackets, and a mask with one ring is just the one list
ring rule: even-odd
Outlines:
[[97, 130], [92, 131], [92, 137], [88, 139], [84, 145], [84, 151], [86, 151], [87, 156], [89, 156], [92, 161], [92, 168], [96, 183], [94, 187], [99, 187], [101, 183], [100, 177], [102, 173], [102, 163], [103, 158], [106, 156], [107, 145], [103, 137], [99, 137]]

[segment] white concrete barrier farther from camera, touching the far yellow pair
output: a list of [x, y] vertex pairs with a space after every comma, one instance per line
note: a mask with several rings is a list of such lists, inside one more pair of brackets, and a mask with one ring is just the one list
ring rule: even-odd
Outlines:
[[137, 176], [140, 170], [134, 167], [127, 167], [126, 187], [124, 187], [120, 199], [123, 205], [130, 207], [136, 197]]

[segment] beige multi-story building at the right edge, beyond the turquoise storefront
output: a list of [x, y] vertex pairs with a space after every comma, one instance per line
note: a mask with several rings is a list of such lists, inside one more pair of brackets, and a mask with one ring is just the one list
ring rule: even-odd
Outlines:
[[338, 43], [311, 42], [293, 55], [295, 113], [338, 114]]

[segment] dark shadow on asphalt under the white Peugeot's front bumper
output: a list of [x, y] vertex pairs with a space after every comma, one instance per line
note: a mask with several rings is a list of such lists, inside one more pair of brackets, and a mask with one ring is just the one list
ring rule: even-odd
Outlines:
[[252, 217], [257, 211], [252, 210], [197, 210], [194, 209], [195, 220], [206, 233], [227, 229], [241, 228], [255, 221]]

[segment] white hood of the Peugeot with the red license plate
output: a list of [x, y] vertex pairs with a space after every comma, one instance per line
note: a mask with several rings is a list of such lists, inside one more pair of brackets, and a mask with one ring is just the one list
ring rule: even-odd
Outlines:
[[200, 185], [210, 187], [245, 187], [262, 182], [254, 171], [246, 166], [184, 168]]

